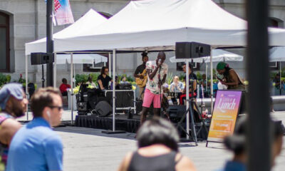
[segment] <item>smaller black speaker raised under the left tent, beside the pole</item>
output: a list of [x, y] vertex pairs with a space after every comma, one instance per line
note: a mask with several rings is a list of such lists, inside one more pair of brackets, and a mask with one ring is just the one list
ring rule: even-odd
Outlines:
[[54, 61], [53, 53], [31, 53], [31, 65], [46, 64], [50, 60]]

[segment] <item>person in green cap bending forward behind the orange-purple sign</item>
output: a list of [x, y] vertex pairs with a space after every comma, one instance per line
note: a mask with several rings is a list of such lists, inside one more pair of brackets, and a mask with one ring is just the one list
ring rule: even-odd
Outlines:
[[242, 79], [233, 68], [229, 68], [229, 64], [219, 62], [217, 64], [217, 78], [220, 83], [227, 86], [228, 90], [244, 90], [245, 86]]

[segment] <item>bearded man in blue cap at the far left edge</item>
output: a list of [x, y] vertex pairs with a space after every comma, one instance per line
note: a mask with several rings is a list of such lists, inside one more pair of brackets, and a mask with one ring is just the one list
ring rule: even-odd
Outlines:
[[0, 167], [6, 165], [9, 145], [21, 124], [15, 120], [24, 115], [28, 100], [21, 84], [9, 83], [0, 90]]

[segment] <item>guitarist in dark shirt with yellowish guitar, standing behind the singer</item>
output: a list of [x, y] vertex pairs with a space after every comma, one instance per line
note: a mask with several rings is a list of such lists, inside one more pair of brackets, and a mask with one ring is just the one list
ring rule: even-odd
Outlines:
[[[142, 81], [142, 83], [146, 83], [146, 81], [144, 81], [145, 79], [147, 79], [147, 75], [145, 74], [145, 76], [143, 76], [143, 71], [145, 71], [145, 63], [147, 63], [148, 61], [148, 56], [147, 56], [147, 52], [142, 52], [142, 64], [140, 66], [138, 66], [135, 69], [135, 73], [134, 73], [134, 77], [136, 78], [140, 78], [140, 80]], [[146, 72], [145, 72], [146, 73]], [[145, 85], [139, 86], [140, 87], [140, 98], [143, 99], [143, 90], [145, 90]]]

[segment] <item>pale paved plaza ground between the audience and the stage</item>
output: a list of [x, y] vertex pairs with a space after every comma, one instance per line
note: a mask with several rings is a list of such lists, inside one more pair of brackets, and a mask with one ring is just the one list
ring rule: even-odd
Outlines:
[[[273, 117], [285, 123], [285, 111], [276, 112]], [[19, 120], [26, 120], [26, 117]], [[63, 113], [63, 120], [71, 120], [71, 111]], [[69, 126], [55, 128], [55, 130], [63, 140], [63, 165], [64, 170], [67, 171], [117, 170], [126, 152], [136, 149], [133, 133], [106, 135], [97, 129]], [[217, 170], [232, 157], [222, 144], [209, 143], [209, 147], [205, 147], [205, 144], [205, 142], [199, 142], [198, 146], [193, 146], [192, 143], [180, 143], [180, 152], [191, 158], [197, 170]], [[276, 161], [274, 171], [284, 170], [284, 167], [285, 149]]]

